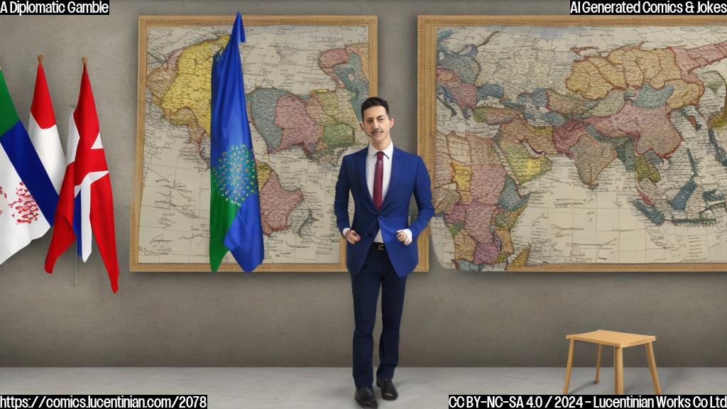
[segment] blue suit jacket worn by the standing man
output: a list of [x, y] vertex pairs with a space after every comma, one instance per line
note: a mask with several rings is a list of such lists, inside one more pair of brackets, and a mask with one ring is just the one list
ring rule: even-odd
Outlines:
[[[377, 211], [366, 185], [367, 152], [368, 148], [364, 148], [344, 156], [336, 183], [334, 212], [338, 229], [343, 231], [350, 228], [361, 236], [361, 240], [355, 245], [346, 243], [346, 266], [352, 274], [361, 271], [371, 243], [380, 228], [396, 274], [406, 277], [419, 263], [417, 238], [434, 215], [429, 172], [422, 158], [394, 146], [389, 188]], [[353, 196], [355, 209], [353, 225], [350, 225], [348, 218], [349, 191]], [[409, 201], [412, 194], [417, 201], [419, 215], [414, 223], [409, 224]], [[404, 245], [396, 238], [396, 231], [401, 229], [411, 230], [411, 244]]]

